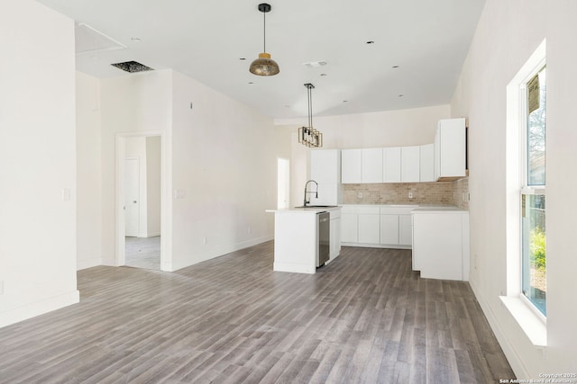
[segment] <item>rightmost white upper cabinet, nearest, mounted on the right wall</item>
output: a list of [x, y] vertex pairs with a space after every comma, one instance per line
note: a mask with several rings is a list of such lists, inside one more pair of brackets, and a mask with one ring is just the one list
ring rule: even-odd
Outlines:
[[465, 119], [439, 121], [435, 135], [435, 180], [453, 181], [465, 176]]

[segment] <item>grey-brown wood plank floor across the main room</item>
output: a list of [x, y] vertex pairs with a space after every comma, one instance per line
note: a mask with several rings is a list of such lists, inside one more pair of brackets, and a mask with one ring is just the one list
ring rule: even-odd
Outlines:
[[469, 285], [410, 251], [344, 247], [315, 275], [273, 243], [178, 272], [78, 272], [79, 304], [0, 328], [0, 382], [491, 383], [513, 378]]

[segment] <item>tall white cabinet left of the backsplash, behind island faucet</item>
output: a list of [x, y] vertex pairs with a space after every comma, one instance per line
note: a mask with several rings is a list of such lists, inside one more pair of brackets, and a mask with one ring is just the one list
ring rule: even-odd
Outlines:
[[[307, 196], [310, 198], [311, 205], [336, 205], [342, 202], [341, 150], [312, 150], [310, 152], [310, 178], [318, 183], [318, 198], [315, 194]], [[315, 190], [312, 189], [312, 191]]]

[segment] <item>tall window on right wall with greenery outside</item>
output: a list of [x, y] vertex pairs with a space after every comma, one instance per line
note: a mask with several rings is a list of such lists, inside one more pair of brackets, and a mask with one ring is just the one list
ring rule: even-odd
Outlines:
[[522, 86], [521, 292], [546, 316], [545, 110], [546, 76], [541, 66]]

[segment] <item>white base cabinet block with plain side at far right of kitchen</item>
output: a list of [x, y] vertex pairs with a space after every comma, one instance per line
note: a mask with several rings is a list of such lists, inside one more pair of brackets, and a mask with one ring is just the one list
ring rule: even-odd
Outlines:
[[423, 278], [469, 280], [469, 212], [413, 212], [413, 270]]

